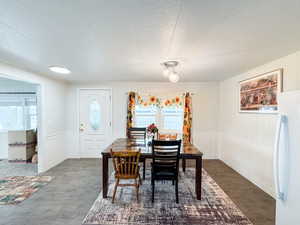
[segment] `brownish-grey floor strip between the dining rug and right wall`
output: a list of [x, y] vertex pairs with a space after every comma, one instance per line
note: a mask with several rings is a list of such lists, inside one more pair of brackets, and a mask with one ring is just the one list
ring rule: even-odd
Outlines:
[[254, 225], [275, 225], [275, 200], [220, 160], [204, 160], [204, 169]]

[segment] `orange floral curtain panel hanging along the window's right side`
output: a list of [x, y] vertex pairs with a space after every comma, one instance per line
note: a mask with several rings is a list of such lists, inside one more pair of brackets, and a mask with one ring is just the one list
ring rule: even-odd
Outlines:
[[183, 143], [192, 142], [192, 97], [189, 92], [184, 96]]

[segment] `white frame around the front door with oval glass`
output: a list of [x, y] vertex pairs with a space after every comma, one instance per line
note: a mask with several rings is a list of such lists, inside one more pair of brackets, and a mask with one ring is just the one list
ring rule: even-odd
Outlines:
[[[109, 113], [109, 120], [110, 120], [110, 129], [109, 129], [109, 143], [112, 142], [112, 131], [113, 131], [113, 122], [112, 122], [112, 103], [113, 103], [113, 96], [112, 96], [112, 88], [109, 88], [109, 87], [100, 87], [100, 88], [77, 88], [77, 124], [76, 124], [76, 129], [77, 129], [77, 137], [78, 137], [78, 158], [82, 158], [82, 152], [81, 152], [81, 143], [80, 143], [80, 130], [79, 130], [79, 124], [80, 124], [80, 92], [81, 91], [84, 91], [84, 90], [97, 90], [97, 91], [108, 91], [109, 92], [109, 95], [110, 95], [110, 107], [109, 107], [109, 110], [110, 110], [110, 113]], [[99, 156], [99, 158], [102, 158], [102, 155]]]

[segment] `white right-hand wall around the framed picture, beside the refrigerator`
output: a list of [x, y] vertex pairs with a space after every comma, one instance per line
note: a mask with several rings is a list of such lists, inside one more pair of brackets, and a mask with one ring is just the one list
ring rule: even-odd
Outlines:
[[275, 192], [272, 161], [277, 115], [239, 113], [238, 83], [283, 68], [284, 91], [300, 89], [299, 62], [300, 52], [297, 52], [220, 84], [219, 157], [272, 196]]

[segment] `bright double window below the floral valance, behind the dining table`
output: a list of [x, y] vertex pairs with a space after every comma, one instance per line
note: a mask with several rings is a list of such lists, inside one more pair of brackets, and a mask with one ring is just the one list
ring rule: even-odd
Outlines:
[[182, 132], [183, 108], [139, 106], [135, 107], [135, 127], [147, 127], [152, 123], [158, 126], [161, 132]]

